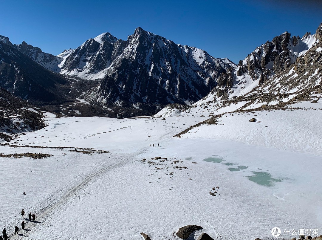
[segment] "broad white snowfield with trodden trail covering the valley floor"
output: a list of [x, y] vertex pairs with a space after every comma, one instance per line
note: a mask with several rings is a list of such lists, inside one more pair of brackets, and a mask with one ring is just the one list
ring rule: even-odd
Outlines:
[[[139, 240], [141, 232], [170, 240], [188, 224], [201, 225], [214, 239], [272, 239], [273, 227], [322, 234], [322, 105], [293, 106], [300, 109], [226, 114], [218, 125], [201, 125], [181, 138], [172, 136], [206, 117], [194, 111], [174, 111], [166, 120], [49, 115], [47, 127], [20, 135], [16, 144], [73, 148], [0, 146], [3, 154], [53, 155], [0, 158], [0, 226], [10, 239], [48, 240]], [[252, 117], [257, 122], [249, 122]], [[77, 147], [110, 153], [70, 151]], [[167, 159], [151, 160], [157, 156]], [[223, 162], [203, 161], [209, 157]], [[247, 168], [229, 170], [237, 166]], [[257, 184], [249, 177], [258, 172], [280, 181]], [[218, 194], [210, 195], [216, 186]], [[13, 235], [22, 208], [39, 222], [25, 220], [31, 231], [20, 230], [23, 237]]]

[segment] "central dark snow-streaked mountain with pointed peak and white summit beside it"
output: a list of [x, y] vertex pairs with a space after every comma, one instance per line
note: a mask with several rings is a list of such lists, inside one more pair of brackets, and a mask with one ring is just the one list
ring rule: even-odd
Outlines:
[[109, 33], [87, 40], [65, 55], [61, 73], [103, 78], [96, 91], [103, 103], [190, 104], [205, 96], [231, 66], [235, 64], [227, 58], [214, 58], [138, 27], [127, 41]]

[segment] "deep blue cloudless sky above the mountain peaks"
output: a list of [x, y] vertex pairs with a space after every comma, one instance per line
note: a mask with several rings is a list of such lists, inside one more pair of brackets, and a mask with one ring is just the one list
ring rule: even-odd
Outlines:
[[320, 1], [1, 1], [0, 35], [58, 55], [109, 32], [127, 39], [136, 27], [238, 63], [256, 46], [288, 31], [315, 32]]

